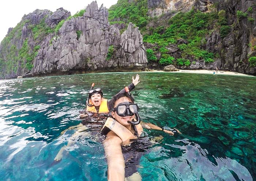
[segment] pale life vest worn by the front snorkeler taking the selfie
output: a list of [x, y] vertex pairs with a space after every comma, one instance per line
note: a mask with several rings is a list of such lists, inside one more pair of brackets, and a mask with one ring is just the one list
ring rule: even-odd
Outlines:
[[[141, 125], [137, 124], [134, 125], [134, 127], [136, 130], [138, 130]], [[123, 126], [113, 118], [108, 118], [106, 120], [106, 123], [102, 128], [101, 134], [106, 135], [110, 130], [113, 131], [117, 136], [119, 136], [119, 138], [121, 138], [123, 142], [126, 142], [129, 139], [137, 138], [130, 130], [128, 130], [125, 126]]]

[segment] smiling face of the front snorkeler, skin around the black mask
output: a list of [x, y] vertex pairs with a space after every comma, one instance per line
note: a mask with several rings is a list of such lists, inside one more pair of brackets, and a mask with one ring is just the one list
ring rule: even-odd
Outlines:
[[[132, 101], [128, 97], [121, 97], [116, 100], [114, 107], [117, 107], [118, 104], [124, 103], [124, 102], [132, 102]], [[113, 118], [116, 121], [118, 121], [120, 124], [122, 124], [123, 126], [131, 125], [130, 123], [128, 123], [128, 121], [132, 121], [135, 118], [135, 115], [121, 117], [116, 113], [116, 111], [112, 111], [111, 113], [112, 113]]]

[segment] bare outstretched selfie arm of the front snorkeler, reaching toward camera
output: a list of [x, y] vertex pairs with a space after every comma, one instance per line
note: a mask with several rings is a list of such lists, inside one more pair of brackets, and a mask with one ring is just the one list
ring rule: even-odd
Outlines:
[[122, 140], [110, 131], [103, 141], [105, 156], [108, 162], [108, 180], [124, 181], [124, 157], [121, 150]]

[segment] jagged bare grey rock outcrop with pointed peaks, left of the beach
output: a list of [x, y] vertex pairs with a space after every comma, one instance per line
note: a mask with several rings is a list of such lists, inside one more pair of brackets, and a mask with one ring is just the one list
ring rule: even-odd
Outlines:
[[[81, 31], [77, 39], [77, 32]], [[144, 69], [147, 66], [146, 49], [138, 28], [129, 24], [122, 35], [110, 26], [108, 11], [96, 1], [87, 6], [83, 17], [67, 20], [59, 30], [60, 36], [45, 42], [35, 58], [32, 74], [54, 71], [110, 70], [116, 67]], [[106, 60], [109, 46], [114, 45], [115, 55]]]

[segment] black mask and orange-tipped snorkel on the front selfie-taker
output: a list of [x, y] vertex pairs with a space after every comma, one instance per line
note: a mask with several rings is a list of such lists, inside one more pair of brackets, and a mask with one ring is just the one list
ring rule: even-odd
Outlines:
[[[131, 95], [129, 92], [128, 87], [125, 87], [125, 90], [128, 95]], [[117, 105], [113, 109], [113, 111], [116, 111], [118, 116], [125, 117], [125, 116], [133, 116], [135, 114], [136, 121], [134, 119], [132, 121], [128, 121], [130, 124], [139, 124], [140, 123], [140, 116], [138, 114], [139, 107], [137, 104], [134, 104], [132, 102], [123, 102]]]

